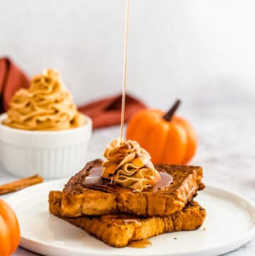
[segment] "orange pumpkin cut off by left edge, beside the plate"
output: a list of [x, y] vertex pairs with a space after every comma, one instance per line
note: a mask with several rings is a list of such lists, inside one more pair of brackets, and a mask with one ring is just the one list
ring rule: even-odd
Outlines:
[[16, 214], [0, 199], [0, 255], [11, 255], [18, 247], [20, 237]]

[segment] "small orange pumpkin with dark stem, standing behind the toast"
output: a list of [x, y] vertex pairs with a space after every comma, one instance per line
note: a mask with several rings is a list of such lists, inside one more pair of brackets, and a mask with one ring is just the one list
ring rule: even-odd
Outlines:
[[133, 116], [127, 128], [127, 139], [136, 140], [152, 157], [154, 164], [188, 163], [196, 152], [197, 136], [191, 124], [175, 116], [181, 101], [169, 112], [145, 109]]

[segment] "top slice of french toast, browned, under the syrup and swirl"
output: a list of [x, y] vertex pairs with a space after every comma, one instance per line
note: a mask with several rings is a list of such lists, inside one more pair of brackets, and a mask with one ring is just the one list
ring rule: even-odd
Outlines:
[[62, 216], [101, 216], [127, 213], [136, 216], [169, 216], [181, 210], [204, 188], [201, 167], [185, 165], [155, 165], [159, 172], [167, 172], [173, 182], [158, 191], [135, 193], [108, 193], [83, 186], [84, 179], [94, 167], [101, 167], [102, 160], [89, 162], [69, 179], [62, 191]]

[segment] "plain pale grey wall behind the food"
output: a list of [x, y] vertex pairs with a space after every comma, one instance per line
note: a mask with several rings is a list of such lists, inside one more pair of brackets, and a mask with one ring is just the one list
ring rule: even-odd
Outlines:
[[[128, 90], [150, 106], [251, 103], [253, 0], [130, 0]], [[77, 104], [120, 91], [125, 0], [0, 0], [0, 55], [60, 70]]]

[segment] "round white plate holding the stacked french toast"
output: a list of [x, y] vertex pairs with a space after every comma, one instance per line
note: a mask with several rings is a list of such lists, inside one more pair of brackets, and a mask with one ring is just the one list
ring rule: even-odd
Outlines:
[[150, 238], [152, 246], [145, 249], [109, 247], [49, 213], [49, 191], [62, 189], [65, 182], [45, 182], [8, 198], [21, 225], [21, 246], [52, 256], [212, 256], [234, 250], [255, 236], [254, 204], [238, 194], [207, 186], [196, 198], [207, 211], [198, 230]]

